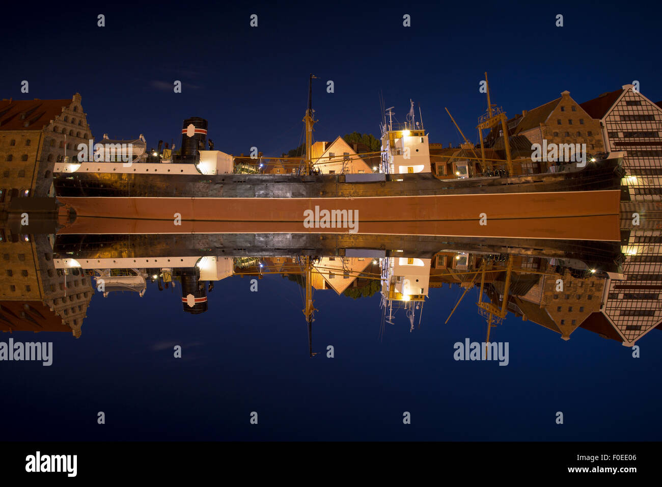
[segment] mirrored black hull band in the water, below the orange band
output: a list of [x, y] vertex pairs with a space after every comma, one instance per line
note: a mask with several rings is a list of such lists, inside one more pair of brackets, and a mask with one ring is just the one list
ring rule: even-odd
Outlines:
[[[393, 249], [402, 250], [397, 252]], [[95, 259], [167, 256], [374, 256], [432, 258], [442, 251], [515, 254], [572, 259], [588, 268], [620, 272], [624, 257], [620, 243], [555, 241], [542, 239], [491, 239], [481, 237], [427, 237], [412, 235], [352, 234], [185, 234], [185, 235], [58, 235], [56, 257]]]

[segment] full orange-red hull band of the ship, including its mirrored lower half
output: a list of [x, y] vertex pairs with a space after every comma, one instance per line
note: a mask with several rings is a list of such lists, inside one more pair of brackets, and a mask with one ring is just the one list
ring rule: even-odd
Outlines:
[[[76, 212], [58, 233], [359, 233], [620, 241], [620, 191], [357, 198], [59, 197]], [[344, 227], [305, 212], [356, 211]], [[481, 225], [481, 214], [485, 219]], [[175, 225], [179, 214], [181, 225]]]

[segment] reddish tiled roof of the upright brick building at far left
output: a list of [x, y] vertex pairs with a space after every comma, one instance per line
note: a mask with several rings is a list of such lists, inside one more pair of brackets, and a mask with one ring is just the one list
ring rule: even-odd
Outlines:
[[71, 99], [61, 100], [13, 100], [0, 101], [0, 130], [40, 131], [62, 113]]

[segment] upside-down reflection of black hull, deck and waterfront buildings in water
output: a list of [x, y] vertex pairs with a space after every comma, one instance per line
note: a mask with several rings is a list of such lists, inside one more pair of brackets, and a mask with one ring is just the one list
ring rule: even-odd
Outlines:
[[[3, 229], [0, 329], [81, 335], [94, 299], [144, 296], [173, 288], [183, 313], [211, 312], [219, 280], [279, 274], [297, 282], [302, 325], [314, 356], [314, 298], [379, 295], [375, 327], [415, 331], [443, 325], [463, 299], [476, 302], [489, 343], [495, 327], [522, 319], [568, 340], [578, 328], [635, 345], [662, 329], [662, 236], [626, 228], [620, 243], [468, 237], [324, 234], [57, 235]], [[203, 249], [203, 250], [200, 250]], [[424, 304], [461, 288], [448, 315], [423, 316]], [[230, 299], [230, 298], [228, 298]], [[324, 311], [332, 313], [332, 311]]]

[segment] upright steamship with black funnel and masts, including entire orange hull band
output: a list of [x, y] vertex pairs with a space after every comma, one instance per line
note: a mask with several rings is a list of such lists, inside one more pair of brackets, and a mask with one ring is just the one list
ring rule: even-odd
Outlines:
[[[183, 122], [180, 154], [142, 154], [140, 162], [65, 160], [54, 189], [63, 231], [95, 233], [352, 233], [618, 241], [624, 153], [593, 154], [582, 166], [557, 164], [523, 174], [512, 160], [481, 156], [432, 160], [413, 103], [407, 121], [383, 114], [379, 166], [363, 174], [321, 174], [312, 156], [312, 79], [305, 111], [306, 152], [291, 174], [235, 174], [236, 156], [207, 149], [207, 121]], [[502, 123], [488, 103], [479, 127]], [[210, 140], [211, 142], [211, 140]], [[360, 154], [359, 154], [360, 155]], [[136, 159], [137, 160], [137, 159]], [[143, 162], [144, 161], [144, 162]], [[321, 210], [320, 210], [321, 209]], [[314, 225], [305, 215], [314, 212]], [[357, 229], [327, 215], [357, 215]], [[322, 218], [320, 219], [320, 215]], [[484, 218], [483, 218], [484, 215]], [[483, 218], [481, 220], [479, 218]], [[93, 220], [91, 220], [93, 219]], [[485, 220], [489, 221], [486, 225]], [[542, 225], [541, 219], [545, 220]], [[591, 219], [593, 225], [587, 225]], [[320, 221], [321, 220], [321, 221]], [[141, 221], [139, 231], [133, 223]], [[310, 223], [310, 222], [308, 222]], [[351, 223], [351, 222], [350, 222]]]

